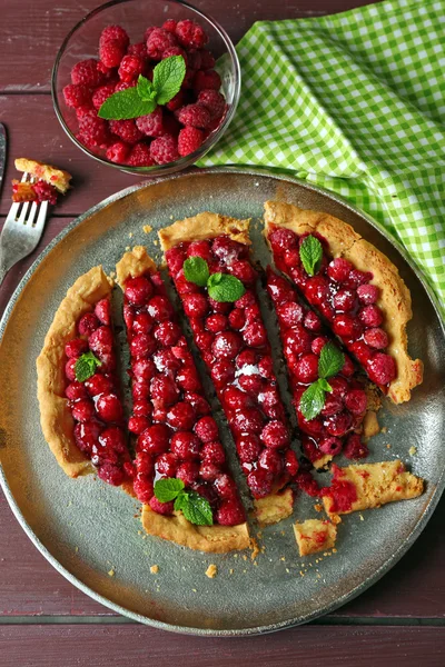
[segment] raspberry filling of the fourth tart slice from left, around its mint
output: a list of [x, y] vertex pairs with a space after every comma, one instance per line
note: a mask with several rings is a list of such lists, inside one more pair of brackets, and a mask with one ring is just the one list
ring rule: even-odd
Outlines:
[[315, 465], [326, 455], [334, 457], [342, 450], [347, 458], [366, 457], [366, 445], [352, 432], [360, 427], [367, 405], [363, 382], [355, 377], [354, 364], [345, 356], [342, 370], [328, 379], [333, 391], [326, 394], [322, 412], [314, 419], [305, 419], [300, 398], [318, 379], [318, 359], [329, 336], [317, 315], [301, 305], [289, 282], [270, 268], [267, 270], [267, 291], [278, 319], [305, 456]]

